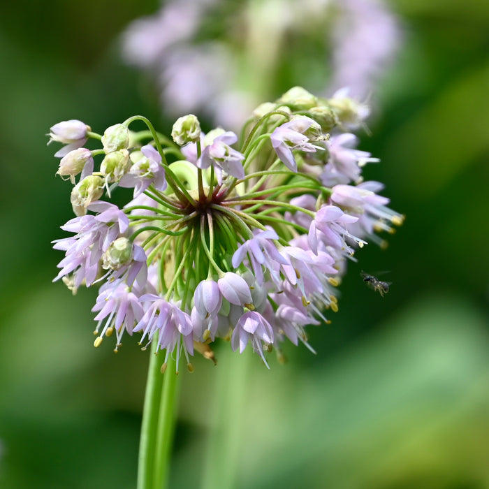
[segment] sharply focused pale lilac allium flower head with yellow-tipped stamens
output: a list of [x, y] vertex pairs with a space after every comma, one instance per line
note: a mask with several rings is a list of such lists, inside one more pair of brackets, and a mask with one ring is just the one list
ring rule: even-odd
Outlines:
[[[217, 338], [240, 353], [251, 345], [265, 365], [286, 340], [312, 350], [305, 328], [337, 311], [347, 261], [403, 220], [381, 183], [363, 181], [379, 160], [349, 131], [367, 115], [344, 91], [294, 87], [260, 105], [240, 138], [204, 134], [194, 115], [175, 122], [173, 140], [140, 116], [102, 135], [78, 120], [52, 126], [76, 215], [54, 241], [65, 252], [54, 280], [73, 293], [100, 286], [95, 346], [115, 334], [117, 351], [140, 333], [143, 349], [164, 351], [162, 371], [170, 355], [177, 370], [182, 357], [193, 370], [196, 351], [214, 360]], [[105, 200], [116, 191], [123, 207]]]

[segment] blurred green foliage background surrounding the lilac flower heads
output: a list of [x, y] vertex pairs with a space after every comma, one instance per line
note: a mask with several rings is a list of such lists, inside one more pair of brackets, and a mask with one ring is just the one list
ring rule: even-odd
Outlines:
[[[489, 488], [489, 3], [388, 5], [404, 41], [360, 149], [381, 158], [365, 177], [385, 182], [407, 220], [386, 251], [370, 245], [351, 263], [333, 323], [311, 331], [316, 356], [291, 346], [289, 363], [268, 371], [225, 345], [218, 367], [196, 359], [194, 374], [180, 374], [170, 487], [217, 477], [222, 488]], [[157, 8], [1, 7], [2, 488], [136, 485], [147, 353], [129, 338], [117, 355], [94, 349], [96, 291], [73, 297], [50, 283], [61, 259], [50, 241], [72, 214], [45, 134], [61, 120], [102, 131], [136, 113], [171, 127], [117, 41]], [[310, 64], [290, 59], [270, 98], [317, 85]], [[390, 270], [388, 295], [360, 270]], [[223, 466], [226, 451], [234, 462]]]

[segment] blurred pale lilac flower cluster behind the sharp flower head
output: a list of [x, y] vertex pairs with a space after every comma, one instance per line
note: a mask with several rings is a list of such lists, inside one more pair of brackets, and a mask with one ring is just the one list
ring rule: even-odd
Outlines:
[[321, 94], [347, 86], [370, 98], [401, 38], [383, 0], [170, 0], [129, 25], [122, 54], [154, 75], [167, 115], [204, 113], [235, 129], [284, 73], [305, 83], [306, 71]]

